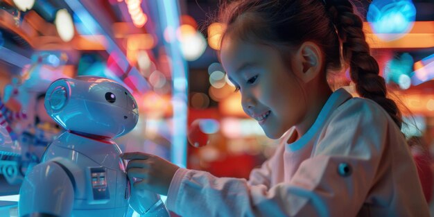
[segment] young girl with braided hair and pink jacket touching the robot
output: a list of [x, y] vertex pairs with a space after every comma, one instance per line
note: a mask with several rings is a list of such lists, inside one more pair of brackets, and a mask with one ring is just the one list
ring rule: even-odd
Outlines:
[[[220, 60], [245, 113], [281, 138], [249, 180], [126, 153], [135, 189], [167, 195], [180, 216], [429, 216], [417, 172], [347, 0], [242, 0], [220, 10]], [[361, 98], [332, 92], [349, 67]]]

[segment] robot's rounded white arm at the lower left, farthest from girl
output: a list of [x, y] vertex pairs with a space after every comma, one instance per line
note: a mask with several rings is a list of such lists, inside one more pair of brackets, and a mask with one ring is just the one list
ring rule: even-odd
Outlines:
[[36, 165], [19, 191], [19, 216], [71, 216], [73, 178], [57, 162]]

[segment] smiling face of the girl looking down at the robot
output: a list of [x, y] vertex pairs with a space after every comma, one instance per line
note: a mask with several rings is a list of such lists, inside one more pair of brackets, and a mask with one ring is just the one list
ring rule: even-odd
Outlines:
[[302, 121], [306, 115], [303, 83], [287, 67], [279, 51], [225, 37], [220, 60], [241, 92], [244, 112], [258, 121], [268, 137], [278, 139]]

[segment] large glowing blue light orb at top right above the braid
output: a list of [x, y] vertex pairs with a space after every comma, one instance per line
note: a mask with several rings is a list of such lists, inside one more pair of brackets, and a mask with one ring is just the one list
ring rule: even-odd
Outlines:
[[374, 0], [367, 10], [372, 31], [384, 41], [397, 40], [410, 32], [416, 17], [411, 0]]

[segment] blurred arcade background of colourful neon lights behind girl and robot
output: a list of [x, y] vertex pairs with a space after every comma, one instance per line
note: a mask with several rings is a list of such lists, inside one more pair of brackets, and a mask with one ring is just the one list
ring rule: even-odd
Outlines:
[[[419, 177], [431, 202], [434, 1], [355, 5], [381, 76], [403, 105], [403, 133], [423, 164]], [[13, 144], [0, 144], [0, 216], [17, 216], [22, 176], [61, 130], [42, 103], [57, 78], [102, 76], [130, 89], [140, 119], [116, 139], [124, 152], [245, 178], [270, 157], [277, 141], [243, 113], [218, 63], [225, 26], [212, 19], [216, 9], [218, 0], [0, 0], [0, 125]], [[329, 83], [352, 90], [347, 71]]]

